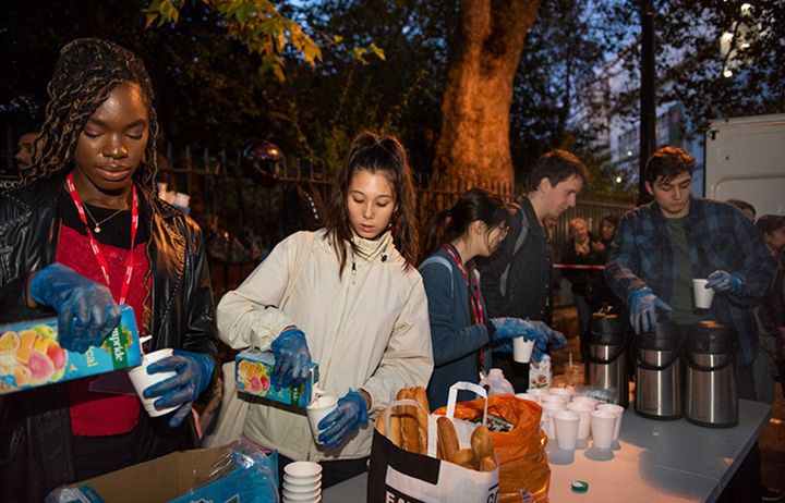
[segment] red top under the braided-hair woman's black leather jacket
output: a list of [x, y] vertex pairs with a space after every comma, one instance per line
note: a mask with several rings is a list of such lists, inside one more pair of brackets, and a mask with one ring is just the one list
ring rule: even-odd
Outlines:
[[[118, 300], [126, 270], [125, 259], [131, 252], [105, 244], [99, 244], [99, 246], [109, 266], [109, 290], [114, 300]], [[131, 278], [133, 287], [129, 290], [125, 304], [133, 307], [136, 326], [142, 328], [146, 292], [144, 287], [136, 287], [136, 285], [145, 283], [145, 275], [149, 269], [145, 243], [136, 245], [133, 255], [134, 269]], [[70, 267], [97, 283], [106, 284], [100, 266], [90, 249], [88, 237], [69, 226], [60, 225], [60, 240], [55, 261]], [[138, 422], [141, 406], [138, 397], [89, 391], [89, 383], [98, 377], [76, 379], [65, 383], [71, 403], [71, 431], [73, 434], [82, 437], [128, 433]]]

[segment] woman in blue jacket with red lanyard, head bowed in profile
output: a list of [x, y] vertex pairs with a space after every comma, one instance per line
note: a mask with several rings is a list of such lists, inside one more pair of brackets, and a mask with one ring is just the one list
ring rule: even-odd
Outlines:
[[[535, 340], [533, 357], [539, 361], [548, 345], [565, 344], [564, 335], [541, 321], [485, 316], [473, 259], [496, 250], [510, 220], [510, 209], [502, 198], [471, 188], [431, 222], [426, 249], [432, 255], [420, 265], [420, 273], [433, 338], [434, 371], [427, 389], [433, 408], [447, 403], [449, 387], [457, 381], [479, 382], [487, 373], [493, 367], [492, 345], [509, 351], [511, 339]], [[459, 401], [473, 398], [461, 393]]]

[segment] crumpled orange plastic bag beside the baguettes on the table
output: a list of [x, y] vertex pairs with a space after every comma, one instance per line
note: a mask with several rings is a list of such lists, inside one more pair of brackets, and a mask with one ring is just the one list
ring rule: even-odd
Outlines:
[[[484, 400], [456, 404], [456, 419], [482, 420]], [[447, 407], [434, 414], [444, 416]], [[512, 395], [488, 396], [488, 416], [515, 425], [511, 431], [492, 433], [499, 462], [499, 502], [523, 502], [527, 492], [533, 502], [547, 502], [551, 468], [545, 444], [547, 437], [540, 428], [542, 407]], [[528, 501], [528, 500], [527, 500]]]

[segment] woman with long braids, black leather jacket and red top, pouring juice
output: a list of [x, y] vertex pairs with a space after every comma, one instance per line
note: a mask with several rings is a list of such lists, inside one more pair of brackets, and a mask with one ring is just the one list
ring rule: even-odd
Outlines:
[[159, 409], [142, 410], [124, 371], [0, 402], [0, 494], [41, 501], [57, 486], [193, 447], [191, 404], [210, 389], [215, 307], [198, 228], [156, 196], [157, 119], [147, 72], [106, 40], [60, 52], [33, 165], [0, 196], [0, 321], [58, 316], [59, 342], [84, 353], [134, 308]]

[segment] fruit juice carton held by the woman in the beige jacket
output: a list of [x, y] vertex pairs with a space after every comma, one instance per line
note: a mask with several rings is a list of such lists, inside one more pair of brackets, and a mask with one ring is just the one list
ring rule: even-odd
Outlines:
[[318, 382], [318, 364], [311, 363], [311, 372], [304, 383], [297, 388], [276, 390], [270, 382], [275, 366], [273, 353], [249, 348], [234, 359], [234, 378], [239, 391], [300, 408], [305, 408], [313, 401]]

